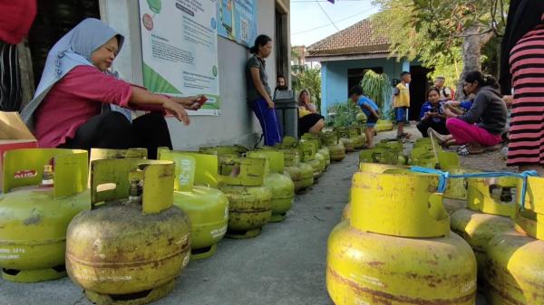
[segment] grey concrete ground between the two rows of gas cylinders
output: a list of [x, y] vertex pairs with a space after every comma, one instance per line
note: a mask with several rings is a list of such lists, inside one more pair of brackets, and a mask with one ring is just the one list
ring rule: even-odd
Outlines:
[[[381, 134], [381, 137], [391, 136]], [[347, 203], [358, 154], [330, 167], [281, 224], [246, 241], [224, 240], [208, 260], [190, 262], [176, 290], [157, 305], [329, 305], [325, 253], [329, 232]], [[0, 280], [0, 305], [90, 304], [68, 279], [36, 284]], [[480, 302], [484, 305], [484, 302]]]

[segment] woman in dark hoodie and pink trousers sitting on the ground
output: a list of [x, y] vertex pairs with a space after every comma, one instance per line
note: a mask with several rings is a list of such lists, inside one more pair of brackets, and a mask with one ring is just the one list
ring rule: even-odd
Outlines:
[[452, 135], [442, 136], [429, 129], [432, 136], [444, 145], [461, 145], [457, 152], [461, 156], [479, 154], [500, 143], [506, 129], [507, 110], [502, 100], [499, 85], [491, 76], [483, 76], [480, 71], [472, 71], [464, 80], [466, 94], [476, 94], [471, 110], [458, 115], [452, 110], [444, 110], [446, 127]]

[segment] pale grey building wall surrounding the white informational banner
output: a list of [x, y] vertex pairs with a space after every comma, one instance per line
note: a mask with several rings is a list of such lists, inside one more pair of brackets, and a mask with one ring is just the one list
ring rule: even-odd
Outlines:
[[[115, 60], [114, 69], [121, 76], [142, 84], [140, 14], [138, 1], [100, 0], [102, 19], [127, 36], [123, 50]], [[259, 33], [274, 37], [275, 0], [257, 0]], [[175, 149], [193, 150], [200, 146], [219, 144], [254, 145], [261, 133], [260, 126], [246, 103], [245, 64], [248, 48], [218, 37], [219, 91], [223, 105], [221, 116], [193, 116], [189, 127], [168, 119]], [[276, 60], [267, 59], [268, 79], [275, 84]]]

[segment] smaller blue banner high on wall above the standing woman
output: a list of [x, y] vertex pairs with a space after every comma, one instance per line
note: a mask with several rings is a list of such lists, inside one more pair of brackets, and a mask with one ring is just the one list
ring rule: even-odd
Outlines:
[[257, 38], [257, 0], [217, 0], [217, 3], [219, 35], [253, 46]]

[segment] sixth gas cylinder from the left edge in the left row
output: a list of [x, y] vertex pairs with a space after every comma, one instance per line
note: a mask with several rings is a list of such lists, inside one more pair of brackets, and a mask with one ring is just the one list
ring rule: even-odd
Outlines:
[[280, 149], [284, 153], [285, 172], [295, 184], [295, 192], [303, 191], [314, 185], [314, 168], [300, 162], [300, 151], [294, 148]]

